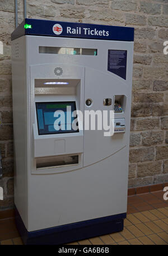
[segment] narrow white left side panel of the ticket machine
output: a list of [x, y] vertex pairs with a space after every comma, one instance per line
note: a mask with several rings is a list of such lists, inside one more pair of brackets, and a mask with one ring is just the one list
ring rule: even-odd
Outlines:
[[15, 155], [15, 205], [27, 225], [26, 185], [26, 41], [12, 41], [12, 100]]

